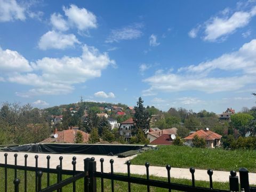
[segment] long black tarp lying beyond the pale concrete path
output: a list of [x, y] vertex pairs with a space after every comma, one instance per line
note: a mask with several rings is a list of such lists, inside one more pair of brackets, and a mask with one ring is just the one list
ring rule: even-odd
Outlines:
[[3, 148], [4, 151], [58, 153], [58, 154], [89, 154], [89, 155], [117, 155], [129, 150], [139, 150], [143, 146], [134, 145], [97, 145], [97, 144], [29, 144], [16, 147]]

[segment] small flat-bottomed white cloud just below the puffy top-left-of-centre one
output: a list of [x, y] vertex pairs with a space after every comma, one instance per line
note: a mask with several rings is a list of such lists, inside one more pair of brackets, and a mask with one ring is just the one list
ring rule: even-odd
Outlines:
[[67, 47], [74, 47], [76, 43], [80, 43], [74, 34], [62, 34], [54, 30], [48, 31], [44, 34], [39, 42], [38, 47], [41, 50], [47, 49], [66, 49]]

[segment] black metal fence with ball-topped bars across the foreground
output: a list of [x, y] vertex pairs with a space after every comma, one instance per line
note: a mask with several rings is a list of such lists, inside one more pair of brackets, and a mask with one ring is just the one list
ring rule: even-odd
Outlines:
[[[4, 167], [4, 191], [7, 192], [7, 174], [8, 169], [14, 170], [14, 191], [19, 191], [20, 179], [17, 178], [17, 170], [23, 170], [23, 183], [24, 183], [24, 191], [27, 192], [28, 190], [28, 183], [27, 183], [27, 171], [35, 172], [35, 191], [36, 192], [50, 192], [57, 190], [58, 192], [62, 191], [62, 188], [73, 184], [73, 192], [76, 191], [76, 181], [83, 178], [83, 191], [90, 191], [95, 192], [97, 191], [97, 178], [100, 178], [100, 189], [103, 192], [105, 190], [104, 179], [111, 180], [111, 191], [114, 192], [115, 190], [115, 181], [123, 181], [127, 183], [128, 191], [131, 191], [132, 183], [145, 185], [147, 186], [147, 191], [150, 191], [150, 187], [158, 187], [158, 188], [165, 188], [169, 191], [171, 190], [179, 190], [179, 191], [256, 191], [255, 187], [249, 186], [249, 172], [245, 168], [239, 169], [239, 176], [240, 176], [240, 187], [238, 177], [236, 176], [235, 171], [230, 171], [229, 176], [229, 190], [220, 190], [214, 189], [213, 182], [212, 182], [212, 170], [207, 170], [207, 174], [209, 175], [209, 188], [203, 187], [196, 187], [195, 186], [195, 169], [190, 167], [189, 171], [191, 173], [191, 185], [181, 185], [177, 183], [171, 182], [171, 175], [170, 170], [171, 166], [166, 165], [166, 174], [167, 179], [166, 181], [158, 181], [152, 180], [149, 176], [149, 163], [145, 164], [146, 167], [146, 179], [131, 177], [130, 165], [131, 162], [127, 161], [127, 175], [119, 175], [114, 173], [114, 160], [110, 159], [110, 173], [103, 172], [103, 163], [104, 159], [100, 159], [101, 170], [98, 172], [96, 170], [96, 162], [94, 157], [84, 159], [84, 171], [77, 171], [76, 170], [76, 157], [73, 157], [73, 161], [71, 162], [73, 165], [73, 170], [63, 170], [62, 169], [62, 159], [63, 157], [59, 157], [60, 164], [56, 167], [56, 169], [50, 169], [50, 156], [47, 156], [47, 168], [38, 167], [38, 155], [35, 155], [35, 166], [27, 166], [27, 157], [28, 155], [24, 156], [24, 166], [17, 165], [17, 156], [18, 154], [14, 154], [14, 165], [8, 164], [7, 162], [7, 153], [4, 154], [5, 163], [0, 164], [0, 167]], [[50, 185], [50, 178], [52, 177], [51, 173], [57, 174], [57, 181], [54, 185]], [[42, 176], [46, 174], [47, 179], [47, 187], [42, 189]], [[71, 175], [68, 179], [62, 180], [62, 175]], [[13, 190], [12, 190], [13, 191]]]

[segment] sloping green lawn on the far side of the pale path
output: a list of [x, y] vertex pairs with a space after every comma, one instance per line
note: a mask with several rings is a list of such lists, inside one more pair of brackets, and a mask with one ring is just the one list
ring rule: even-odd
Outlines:
[[238, 171], [246, 167], [249, 172], [256, 172], [256, 150], [225, 150], [209, 148], [191, 148], [186, 146], [157, 146], [158, 150], [145, 151], [131, 160], [132, 164], [166, 166], [219, 171]]

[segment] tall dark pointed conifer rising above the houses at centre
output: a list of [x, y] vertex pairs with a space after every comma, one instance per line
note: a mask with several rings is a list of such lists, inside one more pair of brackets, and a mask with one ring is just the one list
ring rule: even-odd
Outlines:
[[135, 130], [133, 133], [137, 134], [138, 130], [147, 131], [149, 129], [150, 116], [148, 111], [146, 111], [145, 107], [143, 107], [143, 100], [141, 97], [137, 102], [137, 106], [134, 107], [135, 113], [133, 117], [133, 122], [135, 125]]

